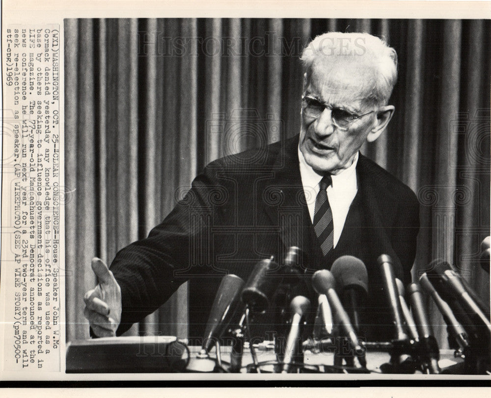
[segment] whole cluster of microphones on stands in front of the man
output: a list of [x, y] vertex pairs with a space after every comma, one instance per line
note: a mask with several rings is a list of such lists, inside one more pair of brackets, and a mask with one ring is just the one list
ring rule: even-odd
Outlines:
[[[489, 237], [483, 241], [481, 256], [487, 272], [490, 269], [489, 242]], [[246, 282], [236, 275], [222, 278], [196, 358], [196, 369], [199, 369], [199, 360], [211, 360], [210, 352], [216, 346], [215, 371], [241, 372], [246, 368], [251, 372], [269, 369], [278, 373], [321, 370], [368, 373], [366, 353], [384, 351], [390, 360], [380, 366], [382, 373], [491, 374], [489, 306], [457, 270], [446, 261], [434, 260], [419, 275], [418, 283], [405, 288], [395, 277], [390, 256], [382, 254], [377, 262], [383, 299], [389, 310], [391, 340], [365, 341], [359, 337], [365, 327], [361, 312], [369, 288], [367, 269], [360, 259], [341, 256], [330, 270], [321, 269], [306, 277], [300, 248], [290, 247], [279, 263], [273, 256], [259, 261]], [[312, 307], [307, 298], [312, 298], [309, 291], [318, 297], [317, 315], [311, 336], [304, 340], [302, 330]], [[431, 296], [443, 316], [450, 346], [455, 349], [455, 356], [460, 357], [454, 366], [443, 369], [439, 366], [440, 351], [426, 313], [427, 296]], [[254, 316], [272, 307], [276, 314], [274, 324], [284, 339], [273, 343], [274, 361], [260, 362], [250, 330]], [[240, 320], [231, 325], [232, 319]], [[229, 361], [222, 360], [219, 344], [226, 332], [232, 336]], [[243, 366], [245, 346], [252, 357], [247, 367]], [[332, 365], [312, 369], [304, 363], [304, 352], [325, 352], [326, 349], [334, 353]]]

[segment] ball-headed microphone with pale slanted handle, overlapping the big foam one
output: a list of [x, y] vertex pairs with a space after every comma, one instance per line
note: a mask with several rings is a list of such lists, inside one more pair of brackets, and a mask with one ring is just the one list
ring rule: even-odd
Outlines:
[[353, 328], [350, 317], [346, 313], [336, 293], [336, 280], [330, 271], [322, 269], [312, 275], [312, 286], [317, 294], [325, 294], [330, 308], [336, 316], [336, 323], [339, 324], [342, 334], [348, 337], [352, 348], [358, 355], [358, 361], [362, 367], [366, 367], [366, 360], [363, 348], [358, 342], [355, 329]]

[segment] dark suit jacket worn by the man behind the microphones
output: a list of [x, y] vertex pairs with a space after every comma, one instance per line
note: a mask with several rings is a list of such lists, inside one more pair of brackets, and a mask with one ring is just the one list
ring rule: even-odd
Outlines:
[[[281, 259], [289, 246], [305, 253], [306, 277], [329, 269], [337, 257], [360, 258], [369, 274], [370, 324], [387, 329], [376, 259], [387, 254], [396, 276], [410, 282], [419, 205], [414, 193], [360, 155], [358, 192], [330, 259], [323, 259], [306, 206], [296, 136], [209, 164], [148, 238], [121, 250], [111, 271], [121, 286], [123, 313], [118, 334], [160, 307], [190, 281], [190, 336], [202, 337], [221, 277], [246, 280], [260, 259]], [[309, 198], [308, 200], [315, 200]]]

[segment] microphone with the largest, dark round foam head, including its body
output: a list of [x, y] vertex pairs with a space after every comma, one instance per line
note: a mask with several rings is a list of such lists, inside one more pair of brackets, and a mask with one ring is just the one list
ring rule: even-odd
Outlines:
[[350, 315], [356, 332], [360, 333], [361, 322], [358, 312], [368, 295], [368, 273], [365, 264], [354, 256], [341, 256], [332, 264], [331, 273], [336, 280], [344, 309]]

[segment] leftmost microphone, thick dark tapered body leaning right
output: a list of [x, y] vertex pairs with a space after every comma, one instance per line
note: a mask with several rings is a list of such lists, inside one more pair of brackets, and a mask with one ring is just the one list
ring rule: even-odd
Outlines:
[[198, 356], [207, 357], [215, 341], [221, 337], [227, 328], [243, 286], [244, 280], [237, 275], [229, 274], [222, 278], [208, 317], [203, 345]]

